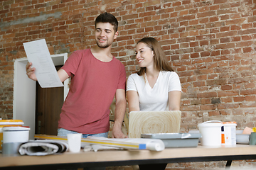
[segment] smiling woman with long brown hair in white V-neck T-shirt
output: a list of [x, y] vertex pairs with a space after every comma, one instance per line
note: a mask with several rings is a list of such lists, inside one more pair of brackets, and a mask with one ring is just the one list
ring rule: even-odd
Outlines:
[[[136, 59], [141, 68], [127, 80], [129, 111], [179, 111], [181, 82], [154, 38], [137, 42]], [[139, 169], [165, 169], [166, 164], [142, 164]], [[133, 169], [137, 167], [133, 166]]]

